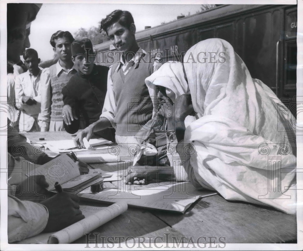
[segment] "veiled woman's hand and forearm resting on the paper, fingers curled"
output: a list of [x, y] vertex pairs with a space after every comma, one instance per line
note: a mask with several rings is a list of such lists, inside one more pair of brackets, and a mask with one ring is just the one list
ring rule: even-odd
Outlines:
[[146, 185], [151, 181], [164, 180], [175, 180], [172, 167], [132, 166], [128, 168], [128, 175], [125, 177], [128, 185]]

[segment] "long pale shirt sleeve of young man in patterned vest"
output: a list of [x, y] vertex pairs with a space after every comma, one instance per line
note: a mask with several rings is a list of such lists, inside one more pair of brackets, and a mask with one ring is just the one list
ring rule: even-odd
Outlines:
[[38, 116], [41, 131], [48, 131], [51, 117], [51, 86], [49, 68], [45, 68], [41, 73], [40, 81], [40, 100], [41, 113]]

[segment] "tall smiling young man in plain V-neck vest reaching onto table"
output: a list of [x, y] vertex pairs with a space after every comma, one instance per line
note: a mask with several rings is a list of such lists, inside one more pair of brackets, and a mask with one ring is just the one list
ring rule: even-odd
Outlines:
[[153, 111], [145, 78], [158, 70], [161, 63], [139, 48], [130, 12], [113, 11], [101, 21], [101, 29], [120, 53], [109, 70], [100, 119], [75, 137], [75, 145], [83, 147], [84, 137], [89, 140], [94, 132], [112, 126], [116, 129], [116, 143], [138, 146], [142, 144], [138, 132], [151, 120]]

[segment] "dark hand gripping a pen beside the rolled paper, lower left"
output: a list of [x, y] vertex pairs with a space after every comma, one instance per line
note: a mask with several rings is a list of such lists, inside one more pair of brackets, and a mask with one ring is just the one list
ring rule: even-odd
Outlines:
[[80, 198], [72, 193], [62, 192], [41, 202], [48, 210], [48, 221], [44, 233], [59, 231], [85, 218], [79, 206]]

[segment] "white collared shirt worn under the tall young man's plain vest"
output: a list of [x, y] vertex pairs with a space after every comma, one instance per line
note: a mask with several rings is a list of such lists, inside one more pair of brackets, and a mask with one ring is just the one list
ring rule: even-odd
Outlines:
[[[132, 60], [130, 60], [129, 62], [125, 62], [124, 60], [124, 55], [122, 54], [120, 57], [120, 62], [117, 65], [117, 68], [115, 68], [115, 71], [118, 71], [120, 68], [123, 71], [123, 74], [126, 75], [129, 71], [129, 69], [131, 69], [132, 67], [137, 68], [138, 64], [141, 61], [141, 58], [143, 56], [145, 56], [147, 54], [146, 51], [142, 50], [141, 48], [138, 49], [138, 51], [135, 53], [134, 57], [132, 58]], [[153, 71], [157, 71], [161, 65], [163, 64], [163, 62], [161, 62], [161, 60], [155, 60], [155, 62], [153, 63]], [[103, 110], [102, 110], [102, 114], [100, 115], [101, 117], [105, 117], [107, 118], [111, 124], [112, 127], [115, 127], [115, 123], [114, 123], [114, 118], [115, 118], [115, 114], [116, 114], [116, 103], [115, 103], [115, 93], [114, 93], [114, 89], [113, 89], [113, 82], [112, 82], [112, 78], [111, 78], [111, 71], [112, 71], [112, 67], [110, 67], [109, 71], [108, 71], [108, 76], [107, 76], [107, 93], [105, 96], [105, 101], [104, 101], [104, 106], [103, 106]]]

